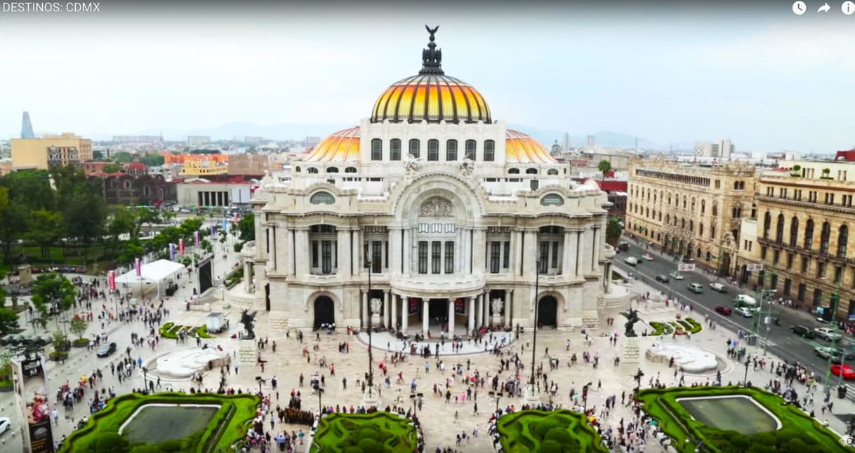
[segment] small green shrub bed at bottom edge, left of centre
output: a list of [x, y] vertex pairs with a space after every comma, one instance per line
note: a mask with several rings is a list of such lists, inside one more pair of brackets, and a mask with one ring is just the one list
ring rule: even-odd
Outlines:
[[311, 453], [411, 453], [416, 451], [416, 427], [397, 414], [330, 414], [321, 419]]

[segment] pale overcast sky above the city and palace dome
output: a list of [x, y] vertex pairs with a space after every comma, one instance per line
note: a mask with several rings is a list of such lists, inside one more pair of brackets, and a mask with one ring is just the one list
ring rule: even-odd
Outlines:
[[825, 15], [809, 1], [803, 16], [787, 1], [608, 3], [102, 1], [91, 14], [0, 12], [0, 137], [20, 134], [22, 110], [36, 132], [83, 134], [357, 124], [421, 67], [428, 23], [440, 26], [445, 74], [510, 123], [666, 146], [855, 144], [855, 15], [840, 1]]

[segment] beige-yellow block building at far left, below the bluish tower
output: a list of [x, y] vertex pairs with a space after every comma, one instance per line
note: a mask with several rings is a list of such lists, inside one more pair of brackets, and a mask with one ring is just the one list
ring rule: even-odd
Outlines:
[[72, 132], [45, 135], [43, 138], [12, 138], [12, 168], [46, 170], [92, 160], [92, 141]]

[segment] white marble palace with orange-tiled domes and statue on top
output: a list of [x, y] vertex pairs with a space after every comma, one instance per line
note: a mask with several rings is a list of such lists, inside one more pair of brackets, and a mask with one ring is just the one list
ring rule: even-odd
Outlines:
[[606, 194], [445, 75], [433, 32], [418, 74], [255, 192], [235, 300], [268, 309], [271, 330], [366, 327], [370, 310], [372, 325], [459, 335], [530, 327], [535, 301], [540, 325], [597, 323]]

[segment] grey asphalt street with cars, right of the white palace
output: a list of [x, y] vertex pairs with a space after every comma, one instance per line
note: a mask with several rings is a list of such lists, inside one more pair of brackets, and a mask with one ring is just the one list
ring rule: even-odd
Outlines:
[[[681, 302], [693, 303], [694, 308], [700, 313], [711, 315], [716, 322], [722, 327], [727, 327], [734, 332], [742, 330], [742, 332], [750, 332], [753, 327], [753, 318], [746, 318], [738, 313], [732, 315], [720, 315], [716, 313], [715, 308], [718, 305], [733, 307], [734, 298], [738, 294], [747, 294], [759, 300], [756, 293], [748, 287], [737, 287], [729, 285], [727, 279], [718, 278], [709, 274], [705, 274], [702, 270], [693, 272], [681, 273], [684, 279], [670, 279], [669, 283], [663, 283], [655, 279], [657, 274], [668, 275], [676, 268], [675, 259], [672, 256], [663, 255], [652, 249], [646, 249], [643, 246], [636, 244], [634, 241], [629, 241], [629, 250], [623, 251], [615, 256], [615, 267], [620, 269], [624, 274], [633, 273], [636, 277], [644, 280], [646, 285], [659, 291], [663, 291], [666, 297], [676, 297]], [[652, 253], [653, 261], [647, 261], [640, 258], [641, 254]], [[638, 256], [640, 264], [630, 266], [623, 261], [627, 256]], [[717, 281], [722, 283], [727, 288], [726, 292], [712, 291], [709, 283]], [[704, 292], [696, 294], [689, 291], [688, 285], [691, 283], [699, 283], [704, 286]], [[775, 297], [775, 301], [777, 297]], [[763, 315], [765, 318], [769, 310], [769, 303], [763, 304]], [[828, 324], [823, 324], [817, 321], [814, 315], [807, 312], [806, 309], [791, 309], [784, 307], [779, 303], [771, 304], [771, 318], [780, 318], [780, 326], [775, 326], [774, 323], [761, 324], [758, 327], [758, 347], [768, 348], [769, 352], [775, 356], [780, 356], [787, 361], [799, 361], [805, 364], [806, 367], [815, 371], [817, 376], [821, 377], [820, 382], [824, 382], [826, 371], [828, 370], [828, 361], [817, 356], [814, 348], [817, 346], [830, 345], [823, 339], [805, 339], [790, 332], [790, 327], [804, 326], [810, 329], [815, 327], [829, 327]], [[846, 336], [841, 340], [846, 349], [852, 349], [852, 338]], [[831, 377], [831, 383], [837, 385], [840, 378], [837, 376]], [[855, 395], [855, 386], [849, 386], [847, 392], [848, 397]]]

